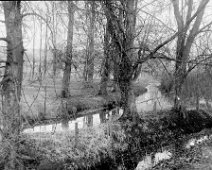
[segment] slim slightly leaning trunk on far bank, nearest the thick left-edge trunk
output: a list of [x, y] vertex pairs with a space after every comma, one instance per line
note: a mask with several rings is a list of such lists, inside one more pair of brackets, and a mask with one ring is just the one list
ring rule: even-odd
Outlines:
[[67, 98], [70, 96], [69, 85], [70, 85], [70, 74], [71, 74], [71, 63], [72, 63], [72, 43], [73, 43], [73, 25], [74, 25], [74, 4], [73, 1], [68, 1], [68, 36], [67, 36], [67, 49], [65, 58], [65, 68], [63, 72], [62, 92], [61, 96]]

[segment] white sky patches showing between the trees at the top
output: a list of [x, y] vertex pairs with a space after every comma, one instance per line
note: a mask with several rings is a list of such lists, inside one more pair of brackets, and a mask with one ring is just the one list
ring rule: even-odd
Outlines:
[[[151, 0], [151, 1], [154, 2], [155, 0]], [[150, 0], [140, 1], [140, 2], [142, 2], [141, 6], [144, 4], [148, 4], [148, 3], [150, 4], [151, 1]], [[169, 27], [176, 30], [176, 24], [175, 24], [176, 21], [174, 19], [173, 9], [172, 9], [170, 0], [165, 0], [165, 1], [159, 0], [158, 2], [167, 2], [167, 4], [166, 4], [167, 6], [165, 8], [163, 7], [160, 9], [160, 8], [158, 8], [158, 3], [157, 3], [157, 6], [156, 6], [156, 3], [152, 3], [151, 5], [146, 6], [142, 10], [145, 10], [146, 12], [151, 13], [152, 15], [155, 15], [155, 17], [160, 19], [166, 25], [168, 25]], [[199, 2], [199, 0], [198, 1], [196, 0], [196, 2]], [[42, 12], [42, 10], [44, 10], [44, 13], [45, 13], [45, 1], [34, 1], [34, 2], [29, 2], [29, 3], [31, 4], [32, 8], [35, 9], [38, 7], [39, 9], [41, 9], [40, 11], [37, 11], [37, 12]], [[78, 4], [80, 4], [80, 2], [78, 2]], [[206, 8], [203, 23], [208, 22], [209, 20], [212, 20], [211, 19], [212, 18], [211, 6], [212, 6], [212, 1], [209, 2], [208, 7]], [[158, 9], [159, 11], [156, 11], [155, 9]], [[64, 13], [64, 14], [62, 14], [62, 16], [64, 19], [64, 23], [67, 25], [67, 17], [65, 14], [65, 13], [67, 13], [67, 9], [64, 8], [64, 10], [61, 10], [61, 12]], [[4, 20], [3, 14], [0, 15], [0, 19]], [[34, 24], [35, 24], [35, 29], [34, 29]], [[57, 42], [60, 44], [64, 44], [63, 46], [65, 46], [67, 29], [64, 26], [62, 26], [61, 24], [58, 27], [60, 28], [60, 32], [58, 32]], [[76, 34], [77, 31], [78, 31], [78, 34]], [[39, 24], [38, 20], [33, 21], [32, 16], [28, 16], [27, 18], [25, 18], [23, 21], [24, 47], [28, 50], [32, 49], [33, 48], [33, 37], [35, 37], [34, 48], [39, 49], [40, 48], [40, 37], [42, 37], [42, 48], [44, 48], [45, 47], [45, 25], [44, 24], [42, 27], [42, 32], [43, 33], [41, 34], [40, 24]], [[78, 30], [78, 29], [76, 29], [76, 27], [75, 27], [74, 32], [75, 32], [74, 44], [75, 44], [75, 47], [79, 47], [80, 45], [85, 43], [86, 36], [84, 35], [85, 33], [82, 30]], [[0, 23], [0, 37], [4, 37], [4, 36], [5, 36], [5, 26], [3, 23]], [[0, 43], [1, 43], [1, 45], [4, 44], [4, 42], [0, 42]]]

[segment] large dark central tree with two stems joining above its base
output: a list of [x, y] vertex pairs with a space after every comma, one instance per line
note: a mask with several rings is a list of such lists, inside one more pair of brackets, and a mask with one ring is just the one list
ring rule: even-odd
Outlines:
[[[119, 52], [118, 67], [118, 84], [121, 91], [121, 101], [124, 109], [123, 117], [137, 117], [135, 105], [135, 96], [132, 90], [132, 77], [134, 69], [133, 47], [134, 47], [134, 32], [136, 23], [136, 6], [137, 1], [120, 1], [120, 4], [113, 1], [106, 1], [105, 14], [108, 21], [109, 32], [112, 40]], [[122, 9], [121, 14], [116, 13], [117, 4]]]

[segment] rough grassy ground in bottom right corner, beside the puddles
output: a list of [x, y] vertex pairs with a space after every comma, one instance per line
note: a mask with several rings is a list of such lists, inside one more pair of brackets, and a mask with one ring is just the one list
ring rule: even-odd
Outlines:
[[[210, 134], [211, 134], [211, 130]], [[205, 133], [206, 132], [206, 133]], [[197, 133], [196, 136], [208, 135], [207, 131]], [[173, 150], [174, 156], [170, 160], [160, 162], [153, 170], [209, 170], [212, 168], [212, 139], [196, 144], [189, 149]]]

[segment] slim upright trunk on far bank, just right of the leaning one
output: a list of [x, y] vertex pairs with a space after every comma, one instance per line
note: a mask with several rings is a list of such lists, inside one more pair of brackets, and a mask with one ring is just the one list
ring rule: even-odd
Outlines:
[[86, 50], [86, 66], [85, 66], [85, 81], [88, 84], [93, 83], [94, 75], [94, 28], [95, 28], [95, 1], [87, 2], [91, 6], [91, 14], [89, 15], [88, 39]]

